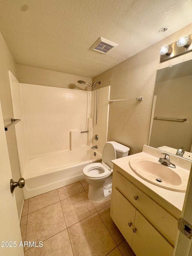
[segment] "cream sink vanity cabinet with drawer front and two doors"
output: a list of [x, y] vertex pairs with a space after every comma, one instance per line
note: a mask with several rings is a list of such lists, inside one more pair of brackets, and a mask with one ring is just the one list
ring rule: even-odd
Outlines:
[[179, 215], [170, 214], [138, 184], [114, 163], [111, 217], [137, 256], [171, 256]]

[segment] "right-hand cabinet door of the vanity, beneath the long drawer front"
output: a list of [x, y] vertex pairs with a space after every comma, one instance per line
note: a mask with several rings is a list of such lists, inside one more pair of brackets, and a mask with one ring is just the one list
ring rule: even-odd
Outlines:
[[132, 249], [137, 256], [172, 256], [173, 246], [136, 210]]

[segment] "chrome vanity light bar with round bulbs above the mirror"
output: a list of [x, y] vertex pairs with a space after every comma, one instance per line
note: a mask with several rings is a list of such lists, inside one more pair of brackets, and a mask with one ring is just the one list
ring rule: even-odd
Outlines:
[[160, 63], [192, 51], [192, 34], [182, 35], [173, 44], [163, 45], [160, 50]]

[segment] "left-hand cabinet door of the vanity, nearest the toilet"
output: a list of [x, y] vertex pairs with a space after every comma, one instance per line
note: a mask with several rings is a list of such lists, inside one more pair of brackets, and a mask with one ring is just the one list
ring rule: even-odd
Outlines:
[[113, 221], [131, 246], [136, 209], [116, 188], [113, 202]]

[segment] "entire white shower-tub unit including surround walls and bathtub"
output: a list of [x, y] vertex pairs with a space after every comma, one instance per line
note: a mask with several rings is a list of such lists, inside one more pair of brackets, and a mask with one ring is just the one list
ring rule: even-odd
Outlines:
[[[96, 83], [78, 81], [94, 88], [93, 98], [87, 90], [19, 83], [10, 71], [9, 77], [13, 117], [21, 120], [15, 131], [21, 175], [26, 181], [24, 198], [84, 179], [83, 168], [101, 162], [101, 153], [96, 151], [95, 156], [91, 149], [93, 127], [97, 117], [101, 123], [108, 118], [110, 87], [98, 89], [101, 97], [97, 99]], [[97, 107], [102, 116], [97, 116]], [[89, 132], [83, 135], [81, 131]], [[100, 134], [107, 142], [106, 124], [100, 126]]]

